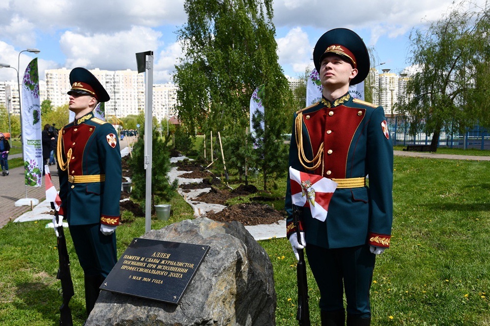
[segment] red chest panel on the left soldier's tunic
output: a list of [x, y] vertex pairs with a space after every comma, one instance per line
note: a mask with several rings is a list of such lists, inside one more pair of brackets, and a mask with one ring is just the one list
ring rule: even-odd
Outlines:
[[65, 156], [72, 149], [71, 157], [67, 156], [70, 161], [69, 174], [83, 174], [83, 153], [90, 137], [94, 134], [95, 126], [81, 124], [72, 126], [63, 130], [63, 148]]

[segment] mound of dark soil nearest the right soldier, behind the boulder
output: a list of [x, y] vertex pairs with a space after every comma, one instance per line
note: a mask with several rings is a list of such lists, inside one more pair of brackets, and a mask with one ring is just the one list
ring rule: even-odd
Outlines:
[[239, 221], [243, 225], [272, 224], [284, 219], [284, 215], [266, 204], [236, 204], [221, 212], [208, 212], [206, 217], [219, 222]]

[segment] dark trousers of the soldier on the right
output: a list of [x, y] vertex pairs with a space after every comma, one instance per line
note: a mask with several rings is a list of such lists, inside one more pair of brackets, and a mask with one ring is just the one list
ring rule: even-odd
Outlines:
[[306, 255], [320, 290], [321, 311], [343, 310], [345, 290], [347, 315], [371, 317], [369, 288], [375, 255], [368, 245], [326, 249], [307, 244]]

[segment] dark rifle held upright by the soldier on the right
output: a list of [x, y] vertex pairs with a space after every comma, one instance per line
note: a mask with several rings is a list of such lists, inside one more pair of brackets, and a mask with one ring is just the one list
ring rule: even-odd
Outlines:
[[[299, 210], [296, 205], [293, 205], [293, 222], [294, 226], [296, 226], [298, 243], [304, 245], [304, 243], [301, 243], [301, 236], [299, 231]], [[299, 322], [299, 326], [311, 326], [310, 309], [308, 306], [308, 282], [306, 279], [306, 262], [303, 249], [297, 250], [299, 261], [296, 264], [296, 276], [298, 283], [298, 309], [296, 312], [296, 320]]]

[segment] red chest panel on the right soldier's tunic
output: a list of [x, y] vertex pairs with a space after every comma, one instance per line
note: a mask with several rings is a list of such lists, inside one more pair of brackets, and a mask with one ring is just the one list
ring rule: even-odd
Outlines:
[[[343, 105], [322, 108], [314, 113], [304, 114], [303, 121], [308, 129], [313, 153], [317, 153], [321, 142], [324, 144], [324, 171], [320, 167], [315, 174], [329, 178], [345, 178], [348, 153], [366, 114], [365, 109], [349, 108]], [[303, 144], [303, 146], [307, 144]]]

